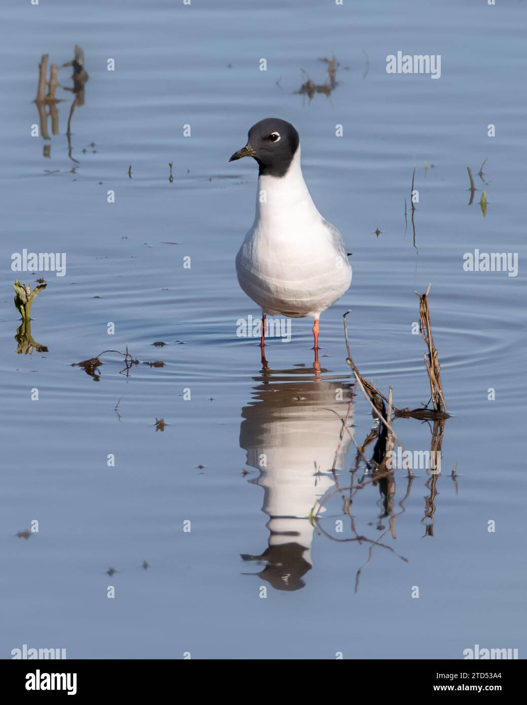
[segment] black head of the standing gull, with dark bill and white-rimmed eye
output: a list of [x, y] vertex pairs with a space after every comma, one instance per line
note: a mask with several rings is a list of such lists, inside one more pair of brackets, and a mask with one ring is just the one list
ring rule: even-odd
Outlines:
[[249, 130], [243, 149], [229, 161], [254, 157], [260, 166], [260, 176], [284, 176], [300, 145], [300, 137], [291, 123], [280, 118], [265, 118]]

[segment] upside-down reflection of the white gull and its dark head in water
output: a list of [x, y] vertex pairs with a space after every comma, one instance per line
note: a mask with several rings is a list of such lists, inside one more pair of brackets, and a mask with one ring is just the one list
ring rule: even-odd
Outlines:
[[242, 409], [240, 446], [260, 472], [250, 482], [264, 488], [269, 538], [263, 553], [241, 557], [264, 564], [258, 575], [274, 588], [298, 590], [313, 565], [310, 511], [334, 486], [332, 468], [345, 465], [352, 391], [348, 382], [313, 376], [317, 369], [265, 373]]

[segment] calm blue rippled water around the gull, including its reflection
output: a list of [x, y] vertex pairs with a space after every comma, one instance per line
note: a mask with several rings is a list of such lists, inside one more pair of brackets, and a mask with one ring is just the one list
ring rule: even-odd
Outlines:
[[[514, 0], [49, 0], [1, 11], [2, 658], [23, 643], [68, 658], [461, 658], [474, 644], [522, 658], [526, 13]], [[71, 92], [57, 92], [51, 140], [30, 137], [32, 99], [40, 55], [60, 65], [75, 43], [90, 80], [68, 156]], [[398, 50], [441, 54], [440, 80], [388, 75]], [[296, 93], [301, 68], [322, 83], [318, 59], [332, 55], [329, 97]], [[62, 85], [70, 75], [59, 72]], [[269, 341], [267, 374], [258, 341], [236, 336], [238, 319], [259, 314], [234, 274], [256, 171], [228, 159], [273, 114], [296, 125], [313, 200], [353, 252], [351, 289], [321, 319], [320, 378], [309, 321], [292, 321], [290, 343]], [[32, 338], [49, 350], [27, 355], [11, 287], [42, 275], [11, 271], [23, 248], [67, 255], [66, 276], [44, 273], [32, 308]], [[464, 271], [475, 248], [518, 252], [518, 275]], [[351, 441], [373, 424], [359, 389], [346, 418], [342, 314], [352, 309], [361, 373], [384, 393], [392, 385], [397, 406], [418, 407], [430, 388], [414, 291], [429, 283], [452, 415], [442, 473], [365, 484], [357, 534], [333, 494], [314, 529], [310, 511], [335, 477], [370, 479]], [[71, 366], [127, 343], [140, 361], [128, 370], [116, 353], [95, 376]], [[430, 449], [430, 424], [394, 429], [404, 448]], [[39, 532], [17, 537], [32, 520]]]

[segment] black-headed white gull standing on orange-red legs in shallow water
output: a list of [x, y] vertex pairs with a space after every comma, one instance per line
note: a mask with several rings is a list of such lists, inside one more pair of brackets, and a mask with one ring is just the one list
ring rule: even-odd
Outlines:
[[262, 356], [267, 314], [312, 317], [318, 362], [320, 314], [351, 284], [341, 234], [311, 199], [302, 175], [300, 137], [291, 123], [260, 120], [229, 161], [242, 157], [253, 157], [259, 172], [255, 220], [236, 255], [236, 274], [262, 309]]

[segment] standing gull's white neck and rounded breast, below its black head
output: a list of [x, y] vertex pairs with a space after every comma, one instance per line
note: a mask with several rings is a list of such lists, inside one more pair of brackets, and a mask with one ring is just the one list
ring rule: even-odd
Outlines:
[[269, 314], [315, 316], [349, 288], [351, 266], [337, 228], [317, 211], [298, 148], [283, 177], [260, 176], [253, 227], [236, 257], [241, 288]]

